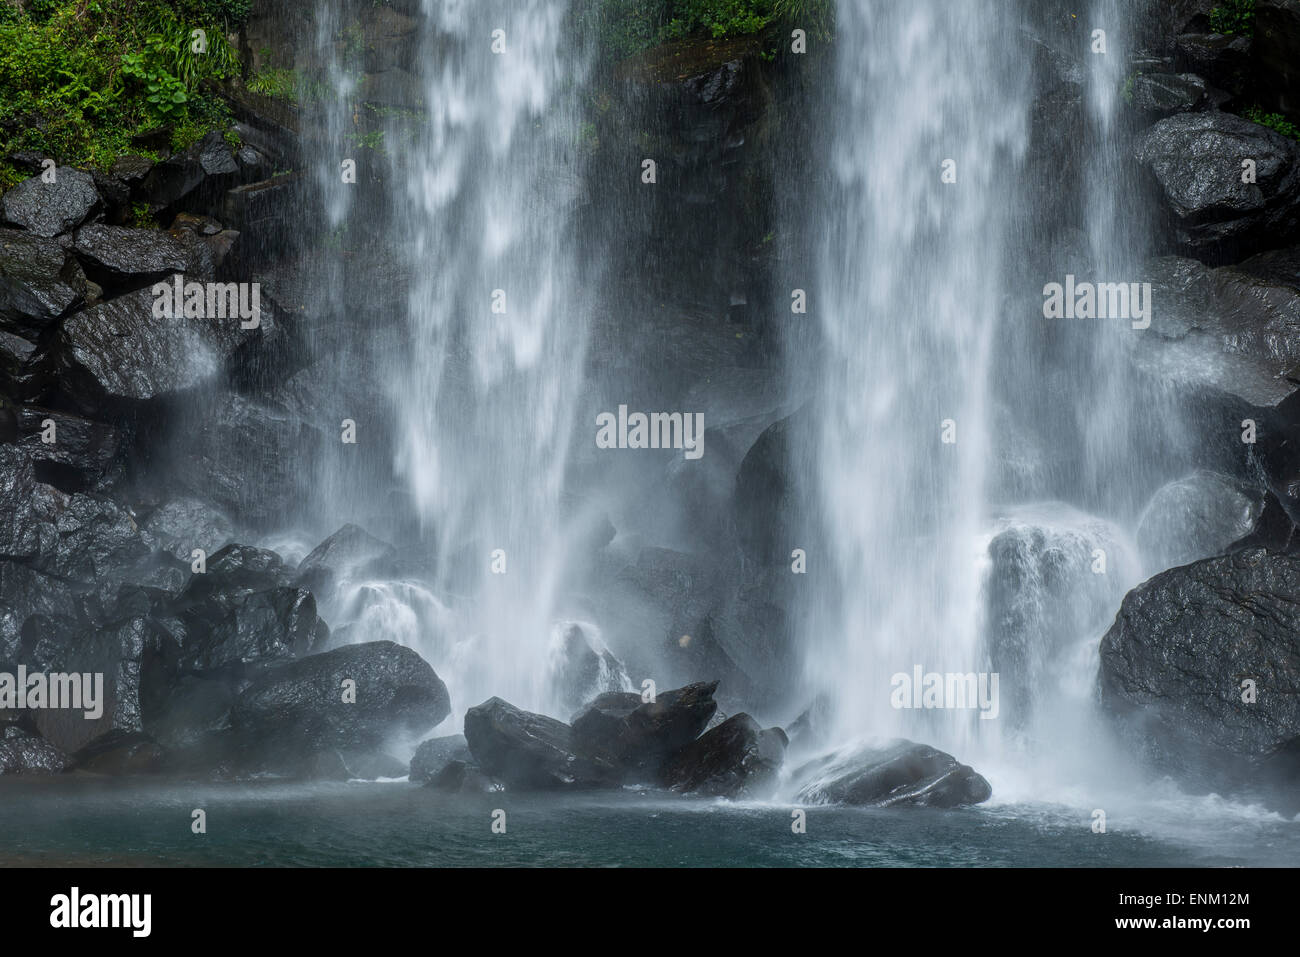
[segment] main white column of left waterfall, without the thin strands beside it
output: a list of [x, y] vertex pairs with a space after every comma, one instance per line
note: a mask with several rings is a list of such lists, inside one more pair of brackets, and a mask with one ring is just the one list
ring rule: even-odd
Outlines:
[[[451, 624], [417, 645], [455, 711], [550, 710], [560, 524], [589, 300], [566, 235], [584, 65], [567, 0], [425, 0], [428, 124], [394, 151], [410, 342], [398, 472], [437, 541]], [[588, 264], [589, 265], [589, 264]]]

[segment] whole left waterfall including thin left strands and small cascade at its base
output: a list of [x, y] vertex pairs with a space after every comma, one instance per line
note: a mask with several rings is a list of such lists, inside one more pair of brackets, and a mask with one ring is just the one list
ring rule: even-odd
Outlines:
[[[370, 390], [386, 400], [376, 445], [407, 494], [385, 505], [354, 489], [350, 511], [326, 510], [408, 514], [424, 555], [412, 580], [348, 581], [326, 602], [330, 623], [350, 640], [416, 648], [452, 689], [458, 720], [493, 694], [547, 710], [564, 618], [562, 493], [598, 263], [572, 235], [586, 62], [569, 4], [424, 0], [412, 10], [416, 90], [403, 91], [412, 108], [356, 88], [347, 18], [341, 3], [326, 7], [321, 139], [356, 163], [350, 183], [338, 156], [320, 157], [329, 225], [351, 231], [358, 260], [334, 274], [339, 285], [395, 276], [407, 290], [396, 332], [369, 347], [381, 376]], [[369, 242], [394, 269], [364, 260]]]

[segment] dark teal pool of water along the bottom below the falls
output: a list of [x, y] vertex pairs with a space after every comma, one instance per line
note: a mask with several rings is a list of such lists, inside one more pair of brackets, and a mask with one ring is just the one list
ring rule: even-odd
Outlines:
[[[191, 831], [195, 809], [207, 833]], [[504, 811], [504, 833], [493, 832]], [[1295, 866], [1300, 823], [1214, 797], [1086, 809], [729, 804], [660, 792], [445, 794], [406, 781], [0, 780], [0, 862], [29, 866]], [[500, 815], [495, 815], [499, 818]]]

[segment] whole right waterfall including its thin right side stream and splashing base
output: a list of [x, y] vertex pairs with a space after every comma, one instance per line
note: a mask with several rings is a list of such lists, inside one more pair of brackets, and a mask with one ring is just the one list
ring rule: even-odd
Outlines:
[[[1041, 290], [1140, 278], [1134, 14], [838, 4], [805, 442], [828, 566], [805, 664], [829, 744], [909, 736], [994, 768], [1097, 746], [1096, 644], [1143, 577], [1141, 507], [1183, 439], [1173, 394], [1126, 360], [1141, 333], [1046, 320]], [[1035, 44], [1063, 75], [1026, 69]], [[1044, 85], [1076, 112], [1057, 150], [1035, 142]], [[997, 718], [890, 697], [918, 674], [997, 675]]]

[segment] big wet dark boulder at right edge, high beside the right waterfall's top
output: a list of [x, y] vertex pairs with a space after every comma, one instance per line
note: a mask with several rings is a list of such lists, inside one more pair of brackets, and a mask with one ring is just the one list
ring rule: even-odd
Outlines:
[[[1300, 228], [1300, 144], [1266, 126], [1179, 113], [1144, 133], [1136, 155], [1178, 246], [1197, 259], [1239, 259]], [[1254, 161], [1253, 183], [1242, 182], [1245, 160]]]

